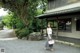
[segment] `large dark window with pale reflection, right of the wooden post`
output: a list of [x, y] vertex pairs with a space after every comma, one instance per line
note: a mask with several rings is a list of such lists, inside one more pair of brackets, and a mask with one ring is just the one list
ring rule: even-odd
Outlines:
[[59, 19], [58, 29], [60, 31], [71, 31], [71, 18]]

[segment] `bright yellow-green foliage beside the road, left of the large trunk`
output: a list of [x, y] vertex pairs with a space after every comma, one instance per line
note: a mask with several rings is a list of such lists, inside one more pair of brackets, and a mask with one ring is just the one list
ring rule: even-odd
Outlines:
[[2, 21], [8, 28], [21, 29], [25, 27], [23, 22], [12, 13], [4, 16]]

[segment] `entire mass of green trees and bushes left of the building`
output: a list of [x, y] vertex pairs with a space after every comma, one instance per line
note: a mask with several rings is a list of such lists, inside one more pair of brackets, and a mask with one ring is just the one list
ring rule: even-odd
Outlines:
[[[6, 16], [4, 22], [7, 26], [17, 28], [18, 37], [27, 36], [32, 31], [40, 31], [41, 20], [35, 16], [46, 10], [47, 0], [0, 0], [3, 8], [10, 10], [13, 15]], [[41, 8], [37, 8], [41, 5]], [[12, 17], [11, 17], [12, 16]]]

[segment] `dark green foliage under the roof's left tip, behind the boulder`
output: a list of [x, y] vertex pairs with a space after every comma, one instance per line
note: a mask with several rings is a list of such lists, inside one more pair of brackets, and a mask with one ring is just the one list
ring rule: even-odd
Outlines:
[[35, 21], [32, 23], [33, 31], [39, 32], [41, 29], [46, 28], [47, 22], [45, 19], [39, 20], [38, 18], [35, 18]]

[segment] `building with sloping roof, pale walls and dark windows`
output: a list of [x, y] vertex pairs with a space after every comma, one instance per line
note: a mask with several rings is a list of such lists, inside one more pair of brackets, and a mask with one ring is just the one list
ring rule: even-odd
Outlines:
[[80, 0], [48, 0], [48, 10], [37, 17], [51, 23], [54, 37], [80, 44]]

